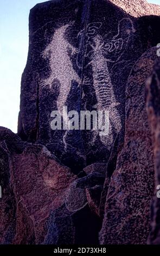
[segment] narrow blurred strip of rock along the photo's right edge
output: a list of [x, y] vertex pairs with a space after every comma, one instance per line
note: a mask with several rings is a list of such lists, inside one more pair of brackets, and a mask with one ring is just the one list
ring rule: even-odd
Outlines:
[[[152, 131], [153, 154], [155, 162], [155, 188], [160, 184], [160, 58], [154, 66], [152, 75], [147, 81], [147, 110]], [[151, 205], [151, 234], [149, 243], [160, 244], [160, 199], [156, 196]]]

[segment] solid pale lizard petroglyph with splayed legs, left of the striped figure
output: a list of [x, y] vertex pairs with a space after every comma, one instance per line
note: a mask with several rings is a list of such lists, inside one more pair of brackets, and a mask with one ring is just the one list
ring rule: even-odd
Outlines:
[[57, 98], [57, 109], [62, 111], [65, 106], [72, 82], [80, 84], [81, 80], [73, 69], [68, 50], [72, 50], [72, 54], [76, 49], [70, 45], [65, 39], [66, 29], [70, 24], [57, 28], [53, 39], [43, 52], [43, 58], [49, 58], [51, 74], [43, 81], [43, 87], [52, 87], [54, 79], [60, 83], [60, 93]]

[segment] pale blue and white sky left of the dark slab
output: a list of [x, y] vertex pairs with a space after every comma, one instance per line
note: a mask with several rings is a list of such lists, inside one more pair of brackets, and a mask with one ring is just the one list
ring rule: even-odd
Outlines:
[[[44, 0], [4, 0], [0, 9], [0, 126], [17, 132], [21, 75], [28, 54], [29, 10]], [[160, 0], [149, 2], [160, 4]]]

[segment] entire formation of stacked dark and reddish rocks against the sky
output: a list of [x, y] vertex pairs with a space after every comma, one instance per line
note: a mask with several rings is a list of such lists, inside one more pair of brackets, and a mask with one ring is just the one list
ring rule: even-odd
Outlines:
[[[31, 9], [18, 133], [0, 129], [0, 243], [160, 242], [159, 15], [143, 0]], [[64, 106], [109, 111], [109, 134], [52, 130]]]

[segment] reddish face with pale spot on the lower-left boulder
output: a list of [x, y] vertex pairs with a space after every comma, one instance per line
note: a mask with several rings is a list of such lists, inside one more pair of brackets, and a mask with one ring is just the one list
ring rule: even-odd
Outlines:
[[27, 147], [20, 156], [12, 155], [11, 173], [17, 210], [21, 215], [17, 220], [15, 242], [22, 243], [26, 238], [19, 224], [25, 211], [29, 218], [28, 226], [34, 227], [35, 242], [43, 243], [49, 213], [63, 204], [66, 190], [74, 176], [68, 168], [54, 161], [52, 156], [49, 158], [47, 150], [37, 145]]

